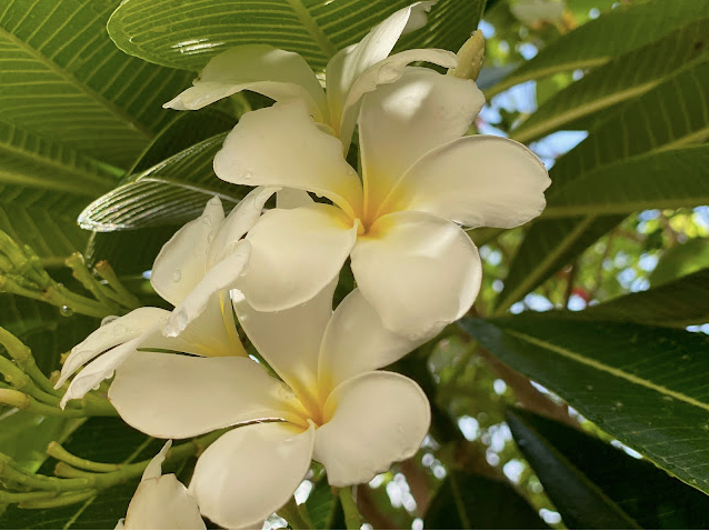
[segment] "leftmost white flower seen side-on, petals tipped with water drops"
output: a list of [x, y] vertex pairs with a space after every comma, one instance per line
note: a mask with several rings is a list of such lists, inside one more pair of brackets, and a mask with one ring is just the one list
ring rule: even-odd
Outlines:
[[[228, 291], [247, 266], [249, 242], [243, 234], [261, 216], [263, 204], [278, 188], [252, 190], [224, 219], [219, 198], [212, 198], [198, 219], [182, 227], [156, 258], [150, 282], [172, 312], [160, 308], [139, 308], [106, 322], [71, 349], [59, 389], [82, 365], [61, 407], [80, 399], [111, 378], [116, 367], [138, 349], [177, 349], [182, 352], [208, 350], [211, 355], [247, 355], [233, 329]], [[226, 322], [227, 327], [222, 323]], [[166, 335], [179, 339], [167, 341]], [[96, 359], [99, 354], [104, 353]]]

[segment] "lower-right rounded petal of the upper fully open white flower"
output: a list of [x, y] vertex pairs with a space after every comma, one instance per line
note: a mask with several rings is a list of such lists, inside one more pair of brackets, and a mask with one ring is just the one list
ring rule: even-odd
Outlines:
[[459, 227], [425, 212], [396, 212], [358, 239], [352, 272], [385, 327], [430, 339], [470, 309], [482, 268]]

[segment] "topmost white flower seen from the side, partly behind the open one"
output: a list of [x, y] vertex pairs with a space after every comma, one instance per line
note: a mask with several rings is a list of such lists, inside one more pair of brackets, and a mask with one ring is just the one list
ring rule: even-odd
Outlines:
[[403, 33], [422, 28], [435, 2], [417, 2], [400, 9], [375, 27], [359, 43], [339, 51], [326, 70], [327, 94], [308, 63], [298, 54], [268, 44], [247, 44], [214, 57], [186, 90], [163, 107], [201, 109], [242, 90], [276, 101], [301, 101], [324, 129], [350, 144], [362, 96], [381, 83], [396, 81], [407, 64], [426, 61], [453, 68], [456, 54], [448, 50], [407, 50], [389, 57]]

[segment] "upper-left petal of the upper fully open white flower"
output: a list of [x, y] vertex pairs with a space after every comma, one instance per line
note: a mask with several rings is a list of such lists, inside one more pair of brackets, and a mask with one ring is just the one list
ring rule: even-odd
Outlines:
[[214, 173], [236, 184], [297, 188], [323, 196], [354, 217], [362, 187], [342, 144], [298, 103], [248, 112], [214, 158]]

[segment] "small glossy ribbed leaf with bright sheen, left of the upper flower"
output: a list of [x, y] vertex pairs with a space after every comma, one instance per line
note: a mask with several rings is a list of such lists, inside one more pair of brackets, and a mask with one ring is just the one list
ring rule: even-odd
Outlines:
[[131, 177], [89, 204], [79, 223], [100, 232], [181, 224], [199, 217], [213, 196], [230, 209], [250, 187], [230, 184], [214, 176], [212, 162], [226, 136], [199, 142]]

